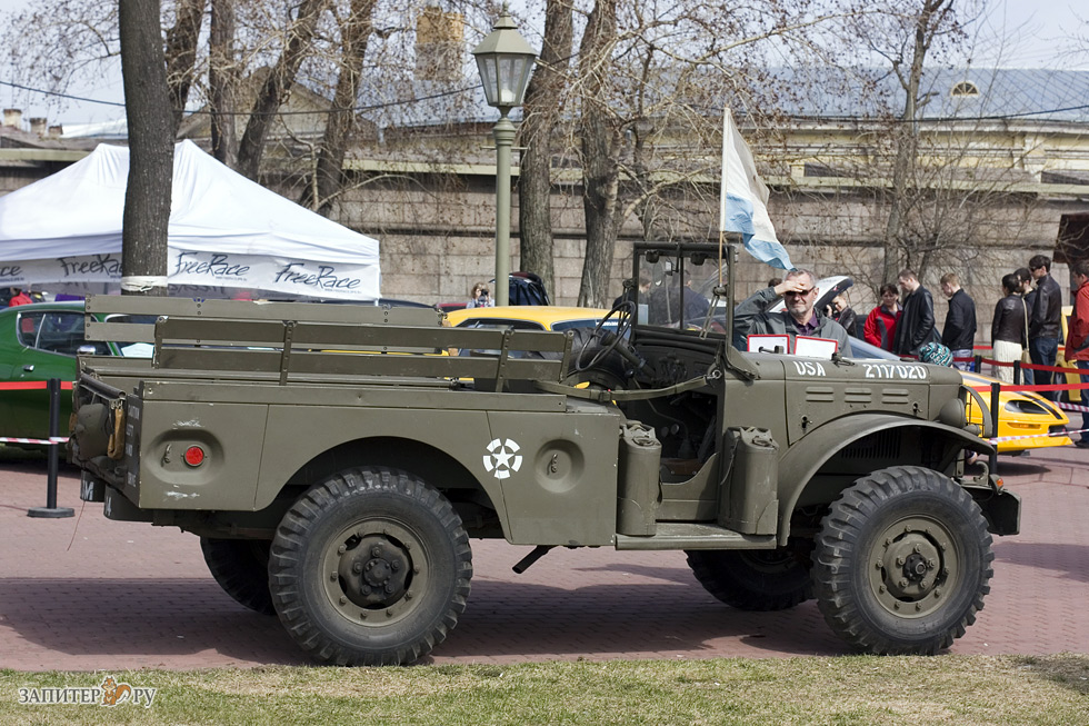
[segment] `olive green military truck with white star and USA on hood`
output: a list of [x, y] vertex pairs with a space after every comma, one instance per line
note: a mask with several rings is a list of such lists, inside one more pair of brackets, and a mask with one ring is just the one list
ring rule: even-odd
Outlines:
[[[477, 538], [532, 547], [517, 571], [553, 547], [683, 550], [732, 607], [816, 598], [858, 649], [948, 647], [983, 606], [991, 534], [1019, 519], [986, 467], [965, 474], [966, 452], [990, 450], [970, 391], [917, 362], [740, 352], [735, 255], [638, 245], [649, 299], [631, 290], [592, 335], [91, 298], [90, 314], [158, 317], [88, 318], [89, 337], [154, 355], [80, 358], [81, 497], [199, 536], [231, 597], [328, 663], [411, 663], [441, 643]], [[689, 278], [712, 299], [686, 319]]]

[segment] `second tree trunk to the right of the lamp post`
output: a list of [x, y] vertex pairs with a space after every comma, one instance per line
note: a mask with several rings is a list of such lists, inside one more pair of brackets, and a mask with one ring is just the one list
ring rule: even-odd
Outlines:
[[620, 129], [607, 93], [605, 60], [617, 37], [617, 0], [598, 0], [587, 21], [579, 50], [582, 83], [582, 208], [586, 213], [586, 259], [578, 305], [607, 307], [617, 240]]

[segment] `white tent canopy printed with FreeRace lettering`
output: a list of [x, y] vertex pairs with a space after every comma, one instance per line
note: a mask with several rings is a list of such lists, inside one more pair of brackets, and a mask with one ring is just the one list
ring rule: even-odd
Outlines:
[[[128, 173], [129, 150], [100, 145], [0, 197], [0, 287], [119, 288]], [[179, 295], [380, 297], [377, 240], [250, 181], [191, 141], [174, 146], [167, 274]]]

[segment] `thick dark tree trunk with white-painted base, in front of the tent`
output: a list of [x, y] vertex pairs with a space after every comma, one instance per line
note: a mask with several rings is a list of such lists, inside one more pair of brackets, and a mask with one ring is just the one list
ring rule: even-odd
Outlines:
[[120, 0], [118, 26], [129, 123], [121, 291], [162, 296], [167, 294], [173, 117], [167, 88], [159, 0]]

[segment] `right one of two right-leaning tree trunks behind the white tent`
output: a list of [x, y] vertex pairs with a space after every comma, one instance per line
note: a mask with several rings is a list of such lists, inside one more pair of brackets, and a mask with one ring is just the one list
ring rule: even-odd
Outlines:
[[377, 0], [352, 0], [351, 14], [340, 31], [343, 54], [340, 74], [337, 77], [337, 91], [332, 99], [334, 110], [326, 121], [314, 178], [302, 192], [301, 200], [304, 207], [326, 217], [332, 210], [332, 199], [344, 187], [344, 153], [354, 129], [356, 98], [359, 96], [363, 57], [367, 54], [367, 43], [373, 28], [371, 14], [376, 4]]

